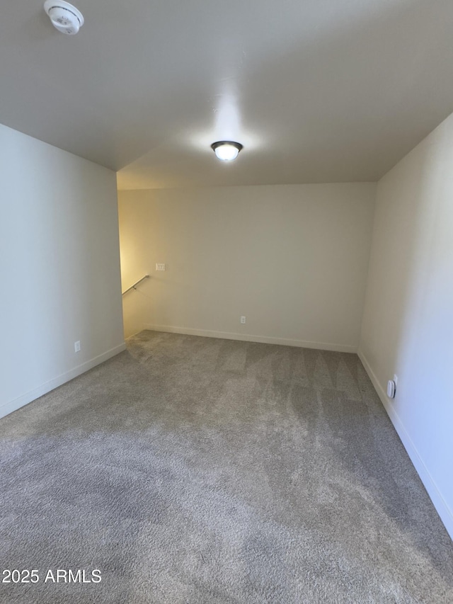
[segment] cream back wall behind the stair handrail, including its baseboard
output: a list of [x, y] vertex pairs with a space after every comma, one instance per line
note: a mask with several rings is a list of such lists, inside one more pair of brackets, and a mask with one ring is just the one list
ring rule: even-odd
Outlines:
[[123, 298], [126, 335], [147, 328], [356, 351], [375, 191], [343, 183], [120, 192], [123, 290], [151, 275]]

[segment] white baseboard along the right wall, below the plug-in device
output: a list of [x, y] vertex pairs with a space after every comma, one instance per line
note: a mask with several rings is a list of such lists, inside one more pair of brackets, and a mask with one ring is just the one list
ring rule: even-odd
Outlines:
[[384, 387], [377, 379], [374, 371], [372, 370], [371, 365], [369, 365], [367, 358], [365, 357], [363, 351], [359, 349], [357, 352], [360, 360], [362, 361], [363, 366], [367, 374], [369, 375], [369, 379], [372, 381], [374, 388], [376, 389], [377, 394], [379, 395], [379, 399], [381, 399], [382, 404], [384, 405], [384, 409], [386, 410], [391, 423], [393, 423], [396, 432], [398, 433], [399, 438], [401, 439], [401, 443], [403, 443], [406, 452], [413, 463], [413, 466], [417, 470], [418, 475], [420, 476], [421, 481], [425, 485], [426, 491], [428, 491], [428, 495], [431, 498], [434, 507], [436, 508], [437, 513], [440, 515], [440, 519], [442, 523], [444, 523], [445, 528], [447, 529], [450, 537], [453, 539], [453, 512], [449, 507], [445, 499], [442, 497], [442, 493], [438, 488], [435, 480], [432, 478], [428, 467], [426, 467], [425, 462], [423, 462], [422, 457], [420, 456], [417, 448], [415, 447], [411, 437], [409, 436], [406, 428], [401, 421], [401, 418], [396, 413], [394, 405], [391, 403], [391, 399], [387, 397], [386, 391]]

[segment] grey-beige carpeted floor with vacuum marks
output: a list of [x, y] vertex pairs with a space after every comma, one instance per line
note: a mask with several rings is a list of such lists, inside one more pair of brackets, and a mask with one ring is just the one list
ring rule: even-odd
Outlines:
[[453, 602], [356, 355], [144, 331], [0, 420], [0, 451], [1, 569], [39, 576], [1, 603]]

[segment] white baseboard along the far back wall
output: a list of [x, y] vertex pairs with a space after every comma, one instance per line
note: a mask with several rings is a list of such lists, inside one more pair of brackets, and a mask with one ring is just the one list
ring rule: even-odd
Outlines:
[[330, 342], [310, 342], [305, 340], [289, 340], [287, 338], [255, 336], [253, 334], [236, 334], [231, 331], [210, 331], [208, 329], [192, 329], [190, 327], [176, 327], [173, 325], [144, 324], [143, 329], [149, 329], [150, 331], [168, 331], [171, 334], [185, 334], [188, 336], [202, 336], [205, 338], [221, 338], [224, 340], [239, 340], [243, 342], [258, 342], [262, 344], [281, 344], [282, 346], [316, 348], [317, 350], [321, 351], [336, 351], [339, 353], [357, 353], [357, 346], [350, 346], [348, 344], [334, 344]]

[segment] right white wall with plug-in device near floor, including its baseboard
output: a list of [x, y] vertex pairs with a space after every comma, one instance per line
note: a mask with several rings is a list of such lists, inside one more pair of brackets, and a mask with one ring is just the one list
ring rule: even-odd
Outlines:
[[379, 181], [360, 357], [453, 537], [452, 166], [453, 115]]

